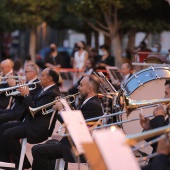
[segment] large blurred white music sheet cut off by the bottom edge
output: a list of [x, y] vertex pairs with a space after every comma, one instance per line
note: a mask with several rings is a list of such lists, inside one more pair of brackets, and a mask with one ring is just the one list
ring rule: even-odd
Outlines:
[[140, 170], [121, 130], [93, 131], [93, 137], [108, 170]]

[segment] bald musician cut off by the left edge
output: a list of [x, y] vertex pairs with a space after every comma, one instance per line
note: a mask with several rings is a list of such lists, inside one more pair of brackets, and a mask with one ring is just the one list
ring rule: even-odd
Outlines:
[[[2, 77], [9, 77], [9, 76], [14, 76], [13, 73], [13, 61], [10, 59], [6, 59], [3, 60], [1, 62], [1, 73], [2, 73]], [[1, 79], [2, 82], [6, 81], [6, 79]], [[8, 83], [2, 83], [0, 84], [0, 88], [5, 88], [5, 87], [9, 87]], [[12, 100], [12, 98], [11, 98]], [[11, 100], [10, 97], [7, 97], [5, 95], [5, 92], [0, 93], [0, 109], [8, 109], [10, 108], [10, 104], [11, 104]]]

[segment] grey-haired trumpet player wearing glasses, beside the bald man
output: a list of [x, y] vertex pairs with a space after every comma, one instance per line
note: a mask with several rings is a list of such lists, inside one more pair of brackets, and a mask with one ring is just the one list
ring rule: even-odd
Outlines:
[[[24, 72], [26, 77], [26, 83], [33, 83], [39, 81], [38, 79], [39, 68], [36, 64], [26, 65]], [[14, 85], [16, 84], [14, 83]], [[39, 83], [36, 83], [36, 85], [29, 85], [29, 88], [34, 88], [34, 87], [35, 89], [30, 91], [30, 95], [32, 98], [34, 98], [36, 93], [42, 88]], [[6, 109], [6, 110], [3, 109], [0, 111], [0, 124], [12, 120], [20, 120], [27, 113], [27, 110], [23, 104], [24, 97], [19, 95], [19, 96], [14, 96], [14, 98], [15, 98], [15, 102], [13, 103], [11, 109]]]

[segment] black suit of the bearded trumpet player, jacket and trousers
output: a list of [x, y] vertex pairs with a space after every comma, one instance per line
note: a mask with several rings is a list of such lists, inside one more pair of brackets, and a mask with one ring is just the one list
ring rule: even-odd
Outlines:
[[[101, 103], [97, 96], [88, 100], [80, 109], [85, 119], [103, 115]], [[67, 137], [64, 137], [59, 144], [36, 145], [32, 149], [33, 170], [52, 170], [49, 160], [63, 158], [66, 162], [75, 162], [71, 153], [71, 145]], [[81, 155], [81, 161], [85, 161]]]

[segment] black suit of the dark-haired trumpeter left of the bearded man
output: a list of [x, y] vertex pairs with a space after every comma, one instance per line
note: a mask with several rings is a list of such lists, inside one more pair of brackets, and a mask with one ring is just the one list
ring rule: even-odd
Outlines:
[[[37, 94], [34, 99], [31, 98], [31, 95], [24, 98], [23, 104], [27, 109], [29, 106], [35, 108], [54, 101], [57, 96], [60, 96], [60, 92], [58, 86], [54, 85], [41, 95], [40, 93]], [[33, 117], [27, 112], [23, 122], [9, 122], [1, 125], [0, 161], [9, 162], [9, 156], [11, 156], [18, 166], [21, 152], [19, 139], [27, 138], [27, 141], [32, 144], [46, 140], [49, 136], [48, 126], [51, 115], [42, 115], [39, 111]], [[52, 124], [54, 124], [54, 121]]]

